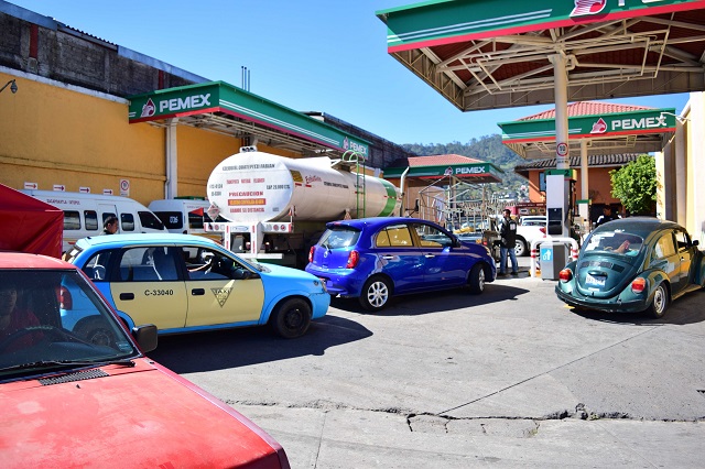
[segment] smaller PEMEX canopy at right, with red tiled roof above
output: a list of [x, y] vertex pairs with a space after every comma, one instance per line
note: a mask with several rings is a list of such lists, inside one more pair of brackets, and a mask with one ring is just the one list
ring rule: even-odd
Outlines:
[[[659, 152], [675, 132], [675, 109], [653, 109], [608, 102], [573, 102], [568, 111], [568, 144], [587, 154]], [[555, 110], [512, 122], [500, 122], [502, 143], [523, 159], [550, 159], [556, 153]]]

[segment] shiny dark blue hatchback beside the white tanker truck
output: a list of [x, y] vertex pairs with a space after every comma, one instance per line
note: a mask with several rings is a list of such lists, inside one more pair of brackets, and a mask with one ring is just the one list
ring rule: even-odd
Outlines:
[[436, 223], [379, 217], [327, 223], [311, 248], [306, 272], [332, 295], [358, 297], [380, 310], [395, 295], [467, 286], [479, 294], [496, 276], [482, 244], [463, 242]]

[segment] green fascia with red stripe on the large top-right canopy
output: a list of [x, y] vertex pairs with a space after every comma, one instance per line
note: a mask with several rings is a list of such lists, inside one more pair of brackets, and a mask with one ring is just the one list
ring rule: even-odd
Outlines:
[[380, 10], [390, 53], [705, 8], [705, 0], [431, 0]]

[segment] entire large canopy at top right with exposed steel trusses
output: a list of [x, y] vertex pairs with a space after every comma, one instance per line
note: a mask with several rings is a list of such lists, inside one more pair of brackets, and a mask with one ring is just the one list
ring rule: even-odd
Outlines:
[[389, 53], [462, 111], [705, 89], [705, 0], [431, 0], [378, 11]]

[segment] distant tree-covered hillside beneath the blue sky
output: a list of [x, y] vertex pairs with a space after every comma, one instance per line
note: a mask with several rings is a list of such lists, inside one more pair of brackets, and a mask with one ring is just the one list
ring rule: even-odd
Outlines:
[[419, 156], [457, 154], [492, 163], [505, 172], [502, 183], [491, 185], [492, 192], [519, 193], [521, 186], [527, 184], [527, 179], [514, 174], [514, 165], [524, 160], [502, 144], [500, 134], [474, 138], [467, 143], [405, 143], [402, 146]]

